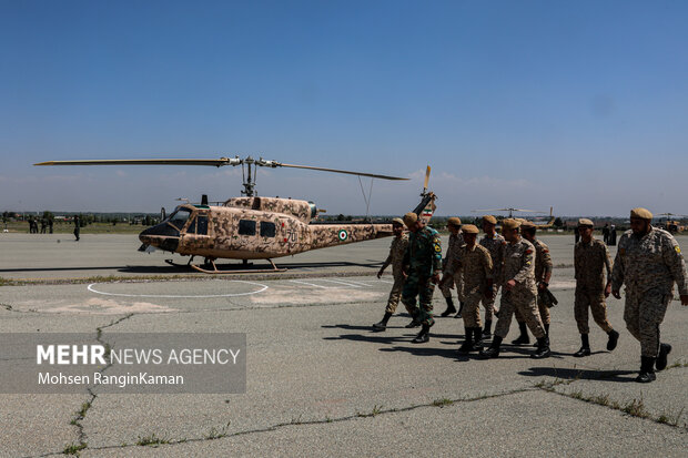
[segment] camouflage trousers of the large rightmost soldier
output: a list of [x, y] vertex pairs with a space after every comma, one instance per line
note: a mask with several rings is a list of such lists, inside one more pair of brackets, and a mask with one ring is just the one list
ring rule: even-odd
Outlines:
[[626, 288], [624, 320], [628, 332], [640, 340], [640, 355], [657, 357], [659, 352], [659, 325], [664, 320], [671, 293], [650, 289], [644, 293]]

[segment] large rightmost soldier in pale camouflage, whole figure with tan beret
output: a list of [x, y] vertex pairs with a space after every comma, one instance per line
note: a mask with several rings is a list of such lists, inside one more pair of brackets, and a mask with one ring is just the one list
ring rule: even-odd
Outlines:
[[671, 346], [659, 340], [659, 325], [674, 297], [674, 283], [682, 305], [688, 305], [686, 262], [676, 238], [651, 225], [652, 214], [646, 208], [630, 211], [630, 231], [619, 238], [611, 273], [611, 294], [621, 298], [626, 285], [624, 320], [630, 334], [640, 342], [640, 374], [636, 381], [655, 380], [655, 367], [667, 367]]

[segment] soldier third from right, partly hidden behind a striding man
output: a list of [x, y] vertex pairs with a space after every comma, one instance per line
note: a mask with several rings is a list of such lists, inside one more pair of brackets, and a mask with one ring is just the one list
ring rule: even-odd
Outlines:
[[[543, 320], [543, 326], [545, 326], [545, 334], [547, 334], [547, 338], [549, 338], [549, 323], [552, 318], [549, 316], [549, 307], [543, 301], [539, 295], [539, 292], [543, 289], [547, 289], [549, 287], [549, 279], [552, 278], [552, 256], [549, 255], [549, 247], [542, 241], [535, 237], [537, 232], [537, 227], [529, 221], [526, 221], [520, 224], [520, 233], [523, 237], [530, 242], [533, 246], [535, 246], [535, 283], [537, 284], [537, 309], [540, 314], [540, 319]], [[520, 315], [520, 312], [516, 309], [516, 323], [518, 323], [518, 330], [520, 335], [512, 342], [514, 345], [527, 345], [530, 343], [530, 338], [528, 337], [528, 328], [526, 326], [526, 320]]]

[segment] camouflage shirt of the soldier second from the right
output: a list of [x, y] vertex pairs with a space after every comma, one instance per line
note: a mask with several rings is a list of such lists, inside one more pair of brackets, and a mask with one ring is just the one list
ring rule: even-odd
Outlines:
[[578, 242], [574, 247], [574, 272], [577, 287], [604, 289], [605, 272], [607, 278], [611, 278], [611, 258], [607, 245], [597, 238], [589, 243]]

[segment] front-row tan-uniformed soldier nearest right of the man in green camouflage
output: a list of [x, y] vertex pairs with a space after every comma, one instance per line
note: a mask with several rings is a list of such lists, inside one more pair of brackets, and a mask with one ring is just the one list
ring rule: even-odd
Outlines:
[[466, 329], [466, 339], [458, 348], [462, 354], [479, 348], [483, 339], [483, 328], [480, 327], [480, 301], [485, 295], [492, 295], [492, 258], [489, 252], [484, 246], [476, 243], [478, 228], [473, 224], [464, 226], [464, 246], [457, 253], [456, 259], [451, 264], [451, 268], [445, 272], [442, 282], [454, 278], [455, 268], [458, 268], [464, 285], [464, 308], [463, 318]]

